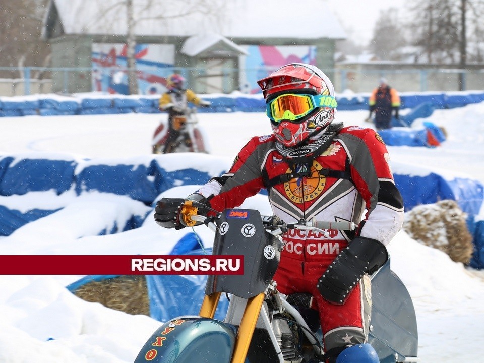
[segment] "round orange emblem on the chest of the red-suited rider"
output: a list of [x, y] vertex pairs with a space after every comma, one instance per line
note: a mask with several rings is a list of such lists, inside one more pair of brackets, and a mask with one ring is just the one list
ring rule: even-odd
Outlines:
[[[324, 191], [326, 176], [320, 175], [319, 171], [323, 167], [317, 161], [313, 161], [308, 177], [298, 177], [284, 183], [284, 192], [287, 198], [293, 202], [302, 204], [318, 198]], [[296, 170], [301, 172], [302, 170]], [[287, 173], [291, 172], [287, 169]]]

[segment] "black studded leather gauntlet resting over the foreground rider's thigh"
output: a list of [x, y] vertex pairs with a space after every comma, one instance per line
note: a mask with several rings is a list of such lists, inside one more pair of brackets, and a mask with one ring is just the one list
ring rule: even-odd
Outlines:
[[338, 305], [344, 304], [353, 286], [363, 275], [371, 275], [387, 260], [387, 249], [380, 241], [356, 237], [336, 257], [316, 287], [326, 300]]

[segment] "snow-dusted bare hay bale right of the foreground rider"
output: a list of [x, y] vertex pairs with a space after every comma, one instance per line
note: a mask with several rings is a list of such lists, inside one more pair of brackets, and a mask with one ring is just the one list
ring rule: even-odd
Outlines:
[[453, 200], [425, 204], [405, 213], [403, 229], [420, 243], [444, 251], [455, 262], [468, 265], [472, 257], [472, 235], [466, 214]]

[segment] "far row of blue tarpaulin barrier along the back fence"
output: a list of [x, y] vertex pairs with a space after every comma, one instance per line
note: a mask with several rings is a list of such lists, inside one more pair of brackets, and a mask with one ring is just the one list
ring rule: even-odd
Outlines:
[[[37, 98], [35, 98], [37, 97]], [[202, 98], [211, 102], [208, 108], [199, 112], [263, 112], [265, 100], [261, 94], [207, 94]], [[340, 111], [368, 109], [368, 94], [336, 94]], [[400, 95], [401, 108], [416, 108], [431, 104], [435, 108], [462, 107], [484, 101], [484, 92], [423, 92]], [[15, 117], [38, 114], [41, 116], [70, 114], [115, 114], [115, 113], [158, 113], [159, 96], [120, 96], [87, 93], [72, 97], [58, 95], [14, 96], [0, 98], [0, 117]]]

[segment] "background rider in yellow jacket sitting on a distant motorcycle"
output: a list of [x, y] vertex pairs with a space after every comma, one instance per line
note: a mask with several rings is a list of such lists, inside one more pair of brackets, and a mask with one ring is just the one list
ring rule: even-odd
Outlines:
[[[180, 129], [183, 127], [183, 118], [188, 112], [188, 103], [191, 102], [196, 106], [209, 107], [210, 102], [199, 98], [191, 89], [185, 89], [185, 78], [179, 74], [172, 74], [166, 79], [168, 91], [160, 97], [159, 108], [161, 111], [168, 112], [168, 137], [163, 147], [163, 154], [173, 151], [174, 143], [180, 135]], [[190, 142], [190, 140], [188, 141]]]

